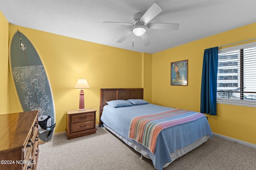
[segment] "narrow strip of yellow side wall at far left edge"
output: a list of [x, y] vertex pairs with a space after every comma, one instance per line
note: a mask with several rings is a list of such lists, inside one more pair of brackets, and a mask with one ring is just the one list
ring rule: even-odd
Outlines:
[[8, 113], [8, 25], [0, 11], [0, 114]]

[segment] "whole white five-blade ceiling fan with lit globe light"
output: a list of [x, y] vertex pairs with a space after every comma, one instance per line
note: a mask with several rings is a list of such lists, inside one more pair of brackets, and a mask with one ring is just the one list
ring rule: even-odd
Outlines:
[[153, 18], [155, 18], [158, 14], [160, 14], [162, 11], [163, 11], [162, 8], [158, 4], [154, 3], [145, 13], [138, 12], [134, 14], [132, 16], [132, 23], [108, 22], [108, 21], [105, 21], [103, 23], [117, 23], [122, 25], [133, 26], [133, 29], [128, 31], [118, 41], [116, 41], [117, 43], [122, 43], [126, 38], [128, 38], [130, 35], [132, 35], [132, 33], [134, 33], [136, 36], [141, 37], [144, 43], [144, 46], [148, 46], [150, 45], [150, 41], [146, 33], [146, 28], [177, 30], [180, 27], [180, 24], [178, 23], [148, 23]]

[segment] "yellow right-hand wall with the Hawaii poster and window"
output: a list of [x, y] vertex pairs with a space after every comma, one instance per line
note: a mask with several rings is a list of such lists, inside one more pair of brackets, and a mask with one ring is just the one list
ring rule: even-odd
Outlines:
[[[204, 49], [256, 37], [256, 23], [199, 39], [152, 55], [152, 103], [200, 111]], [[170, 63], [188, 59], [188, 86], [170, 86]], [[217, 104], [208, 115], [214, 133], [256, 144], [256, 107]]]

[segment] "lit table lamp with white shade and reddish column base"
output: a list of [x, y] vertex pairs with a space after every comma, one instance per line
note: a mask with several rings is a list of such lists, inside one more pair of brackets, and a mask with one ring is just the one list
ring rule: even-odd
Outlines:
[[80, 98], [79, 98], [79, 109], [78, 111], [85, 110], [84, 108], [84, 88], [90, 88], [87, 80], [85, 78], [78, 79], [75, 88], [80, 88]]

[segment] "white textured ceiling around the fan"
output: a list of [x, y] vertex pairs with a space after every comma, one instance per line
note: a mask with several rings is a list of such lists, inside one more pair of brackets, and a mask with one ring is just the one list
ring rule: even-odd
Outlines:
[[[131, 35], [132, 15], [156, 2], [163, 10], [150, 23], [179, 23], [177, 31], [147, 29], [151, 45]], [[9, 23], [138, 52], [156, 53], [256, 22], [255, 0], [0, 0]], [[221, 45], [221, 44], [220, 44]]]

